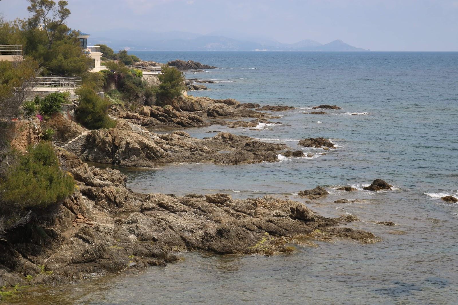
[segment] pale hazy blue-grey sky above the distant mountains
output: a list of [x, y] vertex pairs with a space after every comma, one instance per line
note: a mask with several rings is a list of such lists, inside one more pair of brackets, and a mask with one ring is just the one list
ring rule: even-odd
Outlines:
[[[55, 0], [57, 2], [57, 0]], [[224, 30], [294, 43], [335, 39], [379, 51], [458, 51], [458, 0], [68, 0], [69, 26]], [[6, 19], [26, 17], [26, 0], [1, 0]]]

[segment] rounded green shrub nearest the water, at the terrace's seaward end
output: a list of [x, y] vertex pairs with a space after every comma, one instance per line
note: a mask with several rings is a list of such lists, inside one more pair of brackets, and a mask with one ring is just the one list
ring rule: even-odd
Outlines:
[[162, 74], [158, 75], [161, 84], [158, 88], [158, 98], [167, 101], [183, 95], [185, 87], [185, 76], [175, 68], [162, 67]]

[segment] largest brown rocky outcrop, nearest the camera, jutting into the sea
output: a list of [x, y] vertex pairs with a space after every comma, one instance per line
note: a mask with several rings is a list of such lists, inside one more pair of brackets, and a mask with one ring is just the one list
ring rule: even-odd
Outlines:
[[378, 241], [369, 232], [336, 227], [350, 218], [325, 218], [300, 202], [272, 196], [169, 196], [134, 193], [114, 169], [88, 167], [61, 150], [75, 192], [49, 219], [0, 240], [0, 284], [77, 282], [88, 274], [137, 272], [178, 260], [179, 251], [221, 254], [289, 252], [295, 236]]

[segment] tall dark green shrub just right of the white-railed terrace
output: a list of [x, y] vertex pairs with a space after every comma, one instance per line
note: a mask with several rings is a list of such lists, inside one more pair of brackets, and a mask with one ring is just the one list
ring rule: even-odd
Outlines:
[[76, 90], [79, 96], [78, 108], [76, 109], [76, 119], [89, 129], [112, 128], [116, 126], [116, 121], [108, 116], [108, 99], [100, 98], [97, 93], [88, 86], [83, 86]]

